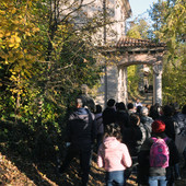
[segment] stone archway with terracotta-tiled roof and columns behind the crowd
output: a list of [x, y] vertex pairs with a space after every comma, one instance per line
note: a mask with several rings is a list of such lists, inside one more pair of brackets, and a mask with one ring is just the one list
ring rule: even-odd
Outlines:
[[[115, 59], [117, 72], [117, 102], [128, 103], [127, 67], [131, 65], [148, 65], [153, 69], [153, 104], [162, 105], [162, 67], [166, 46], [163, 43], [121, 37], [116, 47], [104, 51], [107, 56], [117, 56]], [[106, 72], [107, 74], [107, 72]], [[109, 83], [105, 78], [105, 86]], [[105, 88], [107, 96], [107, 88]]]

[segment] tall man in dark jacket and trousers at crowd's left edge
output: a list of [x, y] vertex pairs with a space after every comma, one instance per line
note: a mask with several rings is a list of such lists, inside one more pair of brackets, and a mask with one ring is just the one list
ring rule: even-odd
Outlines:
[[67, 124], [67, 146], [69, 147], [62, 166], [59, 168], [59, 173], [65, 173], [71, 160], [79, 155], [82, 186], [86, 186], [89, 182], [92, 144], [96, 132], [94, 115], [84, 108], [84, 103], [82, 96], [75, 98], [77, 109], [70, 115]]

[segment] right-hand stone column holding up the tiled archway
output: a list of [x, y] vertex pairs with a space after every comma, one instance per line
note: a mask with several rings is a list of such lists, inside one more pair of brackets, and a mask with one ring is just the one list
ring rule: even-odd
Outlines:
[[153, 66], [153, 104], [162, 105], [162, 62]]

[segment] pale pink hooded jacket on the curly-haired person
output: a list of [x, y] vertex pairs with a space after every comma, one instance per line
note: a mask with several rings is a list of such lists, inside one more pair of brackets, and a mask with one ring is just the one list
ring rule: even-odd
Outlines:
[[131, 166], [131, 158], [126, 144], [119, 142], [115, 137], [107, 137], [98, 148], [98, 167], [105, 171], [123, 171]]

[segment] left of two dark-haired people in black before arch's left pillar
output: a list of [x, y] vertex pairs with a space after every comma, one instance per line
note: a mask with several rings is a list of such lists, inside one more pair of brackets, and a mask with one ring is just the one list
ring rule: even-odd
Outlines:
[[109, 98], [107, 101], [107, 106], [103, 111], [103, 125], [106, 127], [109, 124], [113, 124], [116, 121], [116, 107], [115, 107], [116, 101], [114, 98]]

